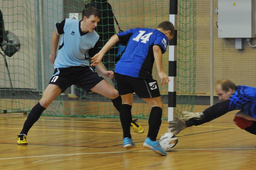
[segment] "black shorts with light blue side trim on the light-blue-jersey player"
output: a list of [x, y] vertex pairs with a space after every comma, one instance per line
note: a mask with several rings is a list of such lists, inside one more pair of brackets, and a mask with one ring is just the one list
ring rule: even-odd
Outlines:
[[71, 85], [77, 85], [89, 92], [103, 77], [94, 72], [89, 66], [72, 66], [56, 68], [49, 84], [56, 84], [64, 92]]

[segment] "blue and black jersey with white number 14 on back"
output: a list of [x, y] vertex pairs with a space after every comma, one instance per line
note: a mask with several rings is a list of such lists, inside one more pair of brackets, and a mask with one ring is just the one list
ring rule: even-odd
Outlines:
[[157, 29], [135, 28], [119, 33], [118, 37], [126, 48], [115, 72], [139, 78], [152, 77], [153, 46], [158, 45], [164, 53], [169, 43], [167, 36]]

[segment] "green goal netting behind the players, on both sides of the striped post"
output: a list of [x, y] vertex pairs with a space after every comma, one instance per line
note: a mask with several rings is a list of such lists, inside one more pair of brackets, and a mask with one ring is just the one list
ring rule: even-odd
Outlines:
[[[43, 4], [42, 4], [43, 2]], [[13, 32], [20, 41], [20, 50], [12, 57], [7, 57], [8, 69], [15, 95], [12, 95], [10, 81], [4, 59], [0, 56], [0, 110], [2, 112], [28, 112], [41, 98], [41, 92], [47, 87], [54, 72], [48, 56], [51, 51], [51, 37], [54, 24], [65, 18], [81, 19], [85, 6], [95, 1], [34, 1], [34, 0], [2, 0], [0, 9], [3, 13], [4, 29]], [[156, 28], [165, 20], [169, 20], [169, 0], [109, 0], [111, 5], [104, 8], [105, 0], [96, 0], [102, 11], [102, 23], [98, 25], [99, 34], [104, 35], [102, 44], [118, 33], [119, 28], [110, 14], [110, 10], [119, 23], [121, 30], [136, 27]], [[196, 0], [178, 1], [178, 44], [177, 44], [177, 110], [191, 110], [195, 93], [195, 45], [196, 45]], [[107, 24], [105, 22], [108, 22]], [[0, 20], [1, 25], [1, 20]], [[105, 27], [115, 30], [104, 30]], [[0, 29], [1, 30], [1, 29]], [[1, 35], [1, 34], [0, 34]], [[107, 69], [116, 62], [114, 54], [104, 57]], [[163, 67], [168, 73], [168, 49], [163, 55]], [[97, 70], [96, 70], [97, 71]], [[156, 67], [153, 78], [159, 81]], [[115, 81], [106, 80], [114, 85]], [[168, 112], [168, 85], [160, 86], [162, 101], [165, 104], [163, 118]], [[78, 96], [78, 97], [76, 97]], [[148, 118], [150, 108], [142, 99], [134, 94], [132, 114], [139, 118]], [[51, 116], [87, 116], [87, 117], [119, 117], [112, 102], [96, 93], [84, 93], [80, 87], [69, 88], [59, 95], [43, 113]]]

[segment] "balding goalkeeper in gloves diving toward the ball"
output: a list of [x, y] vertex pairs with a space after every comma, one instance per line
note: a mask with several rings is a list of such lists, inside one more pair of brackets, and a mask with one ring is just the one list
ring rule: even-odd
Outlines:
[[232, 111], [240, 110], [234, 117], [236, 125], [256, 135], [256, 88], [249, 86], [236, 86], [230, 80], [220, 80], [216, 85], [216, 93], [222, 101], [207, 108], [204, 112], [183, 112], [182, 120], [176, 117], [177, 121], [169, 122], [169, 128], [178, 134], [189, 126], [197, 126], [209, 122], [219, 116]]

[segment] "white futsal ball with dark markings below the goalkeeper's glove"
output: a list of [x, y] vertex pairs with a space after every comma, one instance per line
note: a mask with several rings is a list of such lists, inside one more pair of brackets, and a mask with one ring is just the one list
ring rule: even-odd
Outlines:
[[163, 150], [172, 151], [177, 146], [178, 138], [173, 133], [165, 133], [161, 136], [159, 143]]

